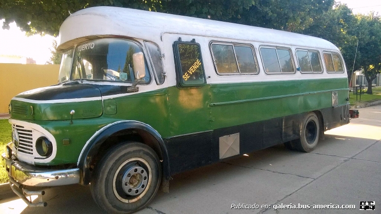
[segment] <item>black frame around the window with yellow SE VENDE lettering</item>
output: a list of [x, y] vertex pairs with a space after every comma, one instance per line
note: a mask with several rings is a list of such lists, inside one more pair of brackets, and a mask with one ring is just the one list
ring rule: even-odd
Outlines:
[[[183, 44], [183, 45], [197, 45], [199, 47], [199, 52], [200, 52], [200, 61], [201, 61], [201, 67], [202, 67], [202, 70], [204, 71], [203, 72], [203, 76], [204, 76], [204, 82], [203, 83], [186, 83], [184, 84], [184, 81], [182, 81], [182, 69], [181, 69], [181, 60], [180, 60], [180, 53], [179, 53], [179, 49], [178, 49], [178, 45], [179, 44]], [[188, 87], [202, 87], [204, 85], [206, 85], [206, 71], [205, 71], [205, 67], [204, 67], [204, 60], [203, 60], [203, 57], [202, 57], [202, 50], [201, 50], [201, 46], [198, 42], [193, 42], [193, 41], [180, 41], [180, 40], [176, 40], [173, 42], [173, 45], [172, 45], [172, 49], [173, 49], [173, 58], [174, 58], [174, 63], [175, 63], [175, 71], [176, 71], [176, 85], [178, 87], [181, 87], [181, 88], [188, 88]]]

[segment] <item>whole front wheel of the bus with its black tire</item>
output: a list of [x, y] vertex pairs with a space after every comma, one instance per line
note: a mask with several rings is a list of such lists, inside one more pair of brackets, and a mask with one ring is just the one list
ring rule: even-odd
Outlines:
[[90, 182], [94, 201], [108, 213], [131, 213], [155, 196], [162, 169], [147, 145], [125, 143], [112, 148], [94, 169]]

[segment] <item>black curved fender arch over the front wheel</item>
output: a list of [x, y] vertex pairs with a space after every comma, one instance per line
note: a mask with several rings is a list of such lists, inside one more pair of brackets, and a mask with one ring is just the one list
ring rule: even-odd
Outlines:
[[121, 142], [128, 143], [128, 141], [139, 141], [151, 147], [162, 162], [164, 179], [170, 179], [168, 151], [160, 134], [148, 124], [128, 120], [104, 126], [86, 142], [77, 163], [81, 170], [80, 184], [89, 184], [90, 167], [92, 164], [96, 164], [108, 149]]

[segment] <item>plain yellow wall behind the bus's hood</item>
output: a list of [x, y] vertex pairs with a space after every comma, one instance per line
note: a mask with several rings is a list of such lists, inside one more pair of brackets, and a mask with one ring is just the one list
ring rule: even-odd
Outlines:
[[59, 65], [1, 64], [0, 113], [8, 113], [11, 99], [21, 92], [56, 84]]

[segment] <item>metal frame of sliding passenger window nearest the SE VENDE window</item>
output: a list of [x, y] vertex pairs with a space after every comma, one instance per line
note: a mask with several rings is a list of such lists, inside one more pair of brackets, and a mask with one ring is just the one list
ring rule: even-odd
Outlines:
[[[234, 58], [236, 60], [236, 63], [237, 63], [237, 67], [238, 67], [238, 73], [219, 73], [218, 72], [218, 69], [217, 69], [217, 65], [216, 65], [216, 62], [215, 62], [215, 58], [214, 58], [214, 54], [213, 54], [213, 51], [212, 51], [212, 45], [228, 45], [228, 46], [232, 46], [233, 47], [233, 53], [234, 53]], [[256, 63], [256, 68], [257, 68], [257, 72], [255, 73], [241, 73], [241, 70], [239, 68], [239, 65], [238, 65], [238, 60], [237, 60], [237, 55], [236, 55], [236, 51], [234, 49], [234, 46], [240, 46], [240, 47], [248, 47], [251, 49], [251, 52], [252, 52], [252, 56], [254, 58], [254, 62]], [[244, 44], [244, 43], [238, 43], [238, 42], [227, 42], [227, 41], [217, 41], [217, 40], [212, 40], [209, 42], [209, 52], [211, 54], [211, 57], [212, 57], [212, 60], [213, 60], [213, 66], [214, 66], [214, 71], [217, 73], [217, 75], [219, 76], [231, 76], [231, 75], [236, 75], [236, 76], [241, 76], [241, 75], [258, 75], [259, 72], [260, 72], [260, 69], [259, 69], [259, 66], [258, 66], [258, 60], [257, 60], [257, 55], [256, 55], [256, 52], [255, 52], [255, 47], [251, 44]]]

